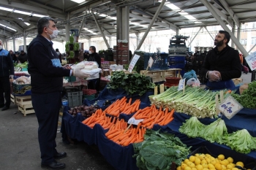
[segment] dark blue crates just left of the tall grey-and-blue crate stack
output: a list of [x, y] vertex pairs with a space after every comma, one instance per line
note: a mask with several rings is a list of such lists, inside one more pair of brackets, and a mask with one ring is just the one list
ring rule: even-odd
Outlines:
[[154, 60], [152, 66], [148, 70], [165, 70], [168, 68], [168, 54], [167, 53], [144, 53], [144, 69], [148, 67], [148, 61], [150, 58]]

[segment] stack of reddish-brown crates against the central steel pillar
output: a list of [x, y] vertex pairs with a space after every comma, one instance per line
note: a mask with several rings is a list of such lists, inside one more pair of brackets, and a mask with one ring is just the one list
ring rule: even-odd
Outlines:
[[128, 42], [118, 42], [117, 45], [113, 47], [113, 60], [116, 61], [116, 64], [124, 65], [128, 64], [128, 57]]

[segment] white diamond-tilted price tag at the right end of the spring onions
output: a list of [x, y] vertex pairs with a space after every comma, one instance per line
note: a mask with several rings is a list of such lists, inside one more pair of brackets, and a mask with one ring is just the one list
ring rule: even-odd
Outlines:
[[243, 109], [241, 104], [236, 101], [232, 96], [227, 96], [224, 101], [219, 104], [219, 110], [222, 112], [227, 119], [231, 119], [237, 112]]

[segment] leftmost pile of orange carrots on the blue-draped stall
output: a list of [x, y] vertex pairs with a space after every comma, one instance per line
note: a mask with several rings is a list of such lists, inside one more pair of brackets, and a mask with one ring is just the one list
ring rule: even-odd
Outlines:
[[102, 112], [102, 109], [97, 109], [91, 117], [83, 120], [82, 123], [88, 125], [90, 128], [94, 128], [94, 125], [98, 123], [102, 128], [108, 129], [116, 123], [116, 117], [107, 116], [105, 112]]

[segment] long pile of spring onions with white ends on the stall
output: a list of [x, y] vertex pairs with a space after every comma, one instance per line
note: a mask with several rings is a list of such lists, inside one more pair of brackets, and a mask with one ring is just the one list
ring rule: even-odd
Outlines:
[[[185, 91], [178, 91], [178, 86], [172, 86], [165, 92], [149, 96], [151, 104], [157, 107], [168, 107], [198, 118], [211, 117], [216, 115], [215, 96], [219, 91], [204, 90], [203, 88], [192, 88], [186, 86]], [[224, 98], [229, 95], [224, 90]], [[220, 101], [219, 101], [220, 103]]]

